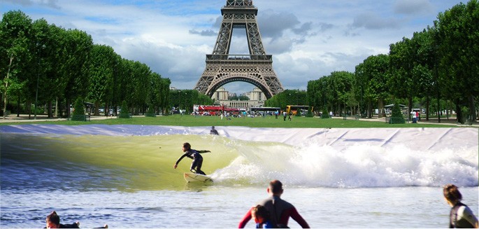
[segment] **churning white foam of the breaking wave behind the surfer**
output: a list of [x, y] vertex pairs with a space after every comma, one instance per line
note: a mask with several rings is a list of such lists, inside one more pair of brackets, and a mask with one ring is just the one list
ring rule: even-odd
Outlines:
[[308, 187], [478, 186], [478, 153], [450, 149], [415, 151], [357, 144], [344, 151], [332, 146], [238, 147], [241, 157], [213, 176], [220, 181], [262, 184], [280, 179]]

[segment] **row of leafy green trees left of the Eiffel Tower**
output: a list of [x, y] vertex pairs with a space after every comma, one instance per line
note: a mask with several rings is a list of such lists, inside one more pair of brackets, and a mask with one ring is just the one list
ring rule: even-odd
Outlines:
[[86, 32], [32, 21], [22, 11], [4, 13], [0, 22], [0, 75], [3, 118], [7, 110], [36, 114], [37, 105], [49, 117], [54, 106], [57, 116], [69, 117], [76, 99], [94, 103], [96, 115], [100, 106], [116, 113], [122, 102], [129, 113], [164, 112], [171, 104], [169, 78], [94, 44]]

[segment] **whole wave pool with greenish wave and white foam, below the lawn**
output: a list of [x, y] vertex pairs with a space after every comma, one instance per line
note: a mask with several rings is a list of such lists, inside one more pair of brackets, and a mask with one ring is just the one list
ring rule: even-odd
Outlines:
[[[313, 228], [446, 227], [445, 183], [479, 212], [477, 140], [461, 135], [478, 139], [477, 130], [380, 130], [382, 139], [369, 129], [217, 128], [222, 136], [206, 127], [0, 127], [0, 226], [43, 228], [55, 210], [82, 228], [232, 228], [271, 179]], [[400, 143], [416, 135], [428, 141]], [[187, 158], [173, 169], [185, 141], [212, 151], [203, 171], [213, 185], [185, 183]]]

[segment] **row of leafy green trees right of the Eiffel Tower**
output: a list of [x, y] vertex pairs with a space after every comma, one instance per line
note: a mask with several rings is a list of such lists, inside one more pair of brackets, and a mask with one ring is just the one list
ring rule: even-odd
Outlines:
[[[434, 26], [389, 46], [388, 54], [371, 55], [355, 72], [334, 71], [308, 81], [306, 101], [316, 111], [371, 118], [384, 115], [386, 104], [401, 103], [408, 112], [424, 107], [426, 118], [455, 111], [457, 120], [476, 122], [479, 101], [479, 7], [477, 0], [439, 13]], [[285, 97], [281, 92], [271, 100]]]

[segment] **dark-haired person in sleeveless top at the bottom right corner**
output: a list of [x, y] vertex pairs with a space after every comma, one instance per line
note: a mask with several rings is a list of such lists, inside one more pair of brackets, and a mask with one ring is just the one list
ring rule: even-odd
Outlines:
[[478, 228], [478, 218], [466, 204], [461, 202], [462, 194], [457, 186], [447, 184], [443, 188], [444, 199], [451, 207], [449, 228]]

